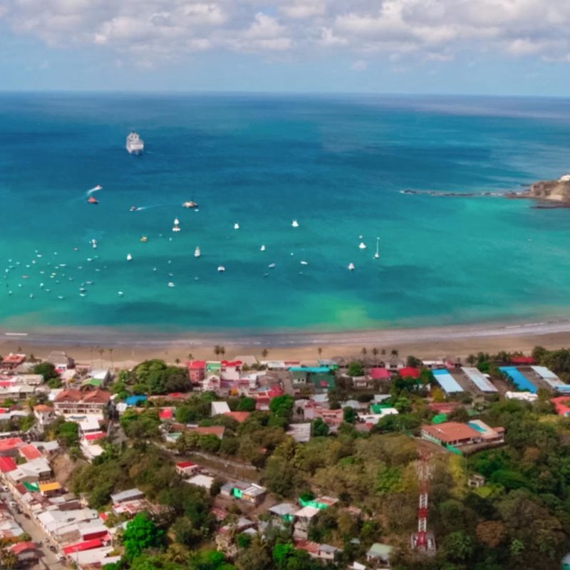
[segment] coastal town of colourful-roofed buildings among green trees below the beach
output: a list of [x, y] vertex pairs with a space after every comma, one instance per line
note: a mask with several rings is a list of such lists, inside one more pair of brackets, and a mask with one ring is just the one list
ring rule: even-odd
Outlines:
[[570, 351], [214, 356], [6, 354], [3, 567], [570, 567]]

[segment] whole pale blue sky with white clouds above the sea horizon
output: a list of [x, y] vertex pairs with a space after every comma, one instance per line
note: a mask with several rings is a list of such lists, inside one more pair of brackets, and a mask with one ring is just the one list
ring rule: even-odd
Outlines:
[[0, 90], [567, 96], [570, 0], [1, 0]]

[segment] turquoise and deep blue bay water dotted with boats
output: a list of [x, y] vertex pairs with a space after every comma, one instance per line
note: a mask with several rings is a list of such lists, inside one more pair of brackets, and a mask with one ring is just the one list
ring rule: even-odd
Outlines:
[[[569, 100], [0, 95], [0, 325], [336, 331], [570, 316], [569, 211], [400, 194], [558, 177], [569, 127]], [[140, 157], [124, 148], [132, 128]]]

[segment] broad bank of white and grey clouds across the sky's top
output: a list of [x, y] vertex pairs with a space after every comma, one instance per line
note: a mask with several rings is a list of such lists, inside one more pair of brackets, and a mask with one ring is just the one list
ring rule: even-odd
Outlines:
[[435, 61], [570, 53], [569, 0], [1, 0], [0, 20], [48, 46], [95, 46], [122, 60], [207, 50], [304, 58], [315, 48]]

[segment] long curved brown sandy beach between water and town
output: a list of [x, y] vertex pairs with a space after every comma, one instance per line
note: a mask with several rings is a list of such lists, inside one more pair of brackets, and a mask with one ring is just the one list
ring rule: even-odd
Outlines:
[[58, 350], [66, 351], [80, 363], [93, 366], [129, 367], [147, 358], [167, 362], [192, 358], [215, 358], [214, 346], [225, 348], [226, 358], [268, 351], [267, 358], [315, 361], [318, 348], [322, 358], [358, 356], [363, 347], [418, 358], [465, 358], [470, 353], [531, 351], [570, 346], [570, 321], [543, 321], [519, 324], [477, 324], [432, 328], [347, 331], [338, 333], [237, 332], [191, 334], [187, 336], [142, 335], [115, 329], [58, 330], [37, 332], [0, 331], [0, 354], [24, 351], [37, 358]]

